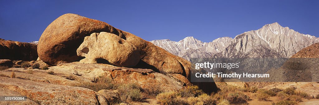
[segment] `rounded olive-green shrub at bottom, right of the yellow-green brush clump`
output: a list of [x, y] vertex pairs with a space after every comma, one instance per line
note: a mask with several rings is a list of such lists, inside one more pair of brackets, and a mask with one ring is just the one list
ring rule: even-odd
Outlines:
[[242, 92], [229, 93], [227, 99], [231, 104], [244, 104], [250, 100], [249, 96]]

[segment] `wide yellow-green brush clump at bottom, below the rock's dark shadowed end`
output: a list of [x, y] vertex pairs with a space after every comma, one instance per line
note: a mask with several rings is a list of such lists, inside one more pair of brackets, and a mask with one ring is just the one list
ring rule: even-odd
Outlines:
[[156, 96], [161, 105], [214, 105], [216, 100], [204, 94], [197, 86], [187, 86], [183, 89], [164, 92]]

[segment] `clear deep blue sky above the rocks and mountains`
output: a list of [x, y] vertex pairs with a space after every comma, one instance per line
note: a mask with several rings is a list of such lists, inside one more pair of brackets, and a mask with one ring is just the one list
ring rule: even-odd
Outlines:
[[147, 41], [194, 36], [210, 42], [274, 22], [319, 37], [318, 0], [1, 0], [0, 38], [39, 40], [65, 13], [104, 21]]

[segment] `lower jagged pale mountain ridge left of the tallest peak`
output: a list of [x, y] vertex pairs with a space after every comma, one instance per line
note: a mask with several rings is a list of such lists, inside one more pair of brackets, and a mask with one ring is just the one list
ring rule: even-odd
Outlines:
[[169, 39], [153, 40], [151, 42], [174, 55], [189, 60], [189, 58], [211, 57], [214, 53], [218, 53], [221, 49], [227, 47], [231, 40], [230, 37], [222, 37], [206, 43], [194, 37], [186, 37], [178, 42]]

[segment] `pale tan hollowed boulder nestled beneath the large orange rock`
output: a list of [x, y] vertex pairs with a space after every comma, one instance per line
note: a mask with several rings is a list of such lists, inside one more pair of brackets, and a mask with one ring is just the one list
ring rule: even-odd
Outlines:
[[92, 33], [85, 37], [77, 54], [85, 57], [80, 60], [81, 63], [109, 62], [121, 67], [134, 67], [140, 60], [139, 51], [134, 45], [108, 32]]

